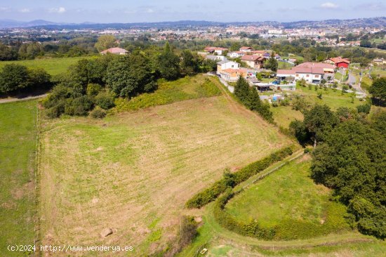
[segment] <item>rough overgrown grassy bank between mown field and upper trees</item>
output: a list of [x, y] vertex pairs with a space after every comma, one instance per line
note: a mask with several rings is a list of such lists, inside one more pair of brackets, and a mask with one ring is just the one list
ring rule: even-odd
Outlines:
[[159, 80], [159, 88], [154, 93], [143, 93], [131, 100], [118, 98], [111, 112], [124, 112], [143, 109], [156, 105], [167, 105], [182, 100], [211, 97], [220, 95], [221, 91], [216, 86], [219, 84], [215, 77], [199, 74], [194, 77], [184, 77], [176, 81]]

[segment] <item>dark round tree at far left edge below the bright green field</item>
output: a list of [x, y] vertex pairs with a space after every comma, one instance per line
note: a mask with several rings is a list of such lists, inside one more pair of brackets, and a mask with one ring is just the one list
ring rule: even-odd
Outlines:
[[4, 65], [0, 73], [0, 91], [9, 93], [28, 86], [28, 69], [17, 64]]

